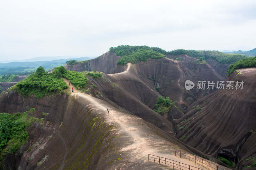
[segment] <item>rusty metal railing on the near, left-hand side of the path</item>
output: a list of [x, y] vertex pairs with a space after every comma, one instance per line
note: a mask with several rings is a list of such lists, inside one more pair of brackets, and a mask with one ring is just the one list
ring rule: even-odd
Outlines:
[[180, 163], [180, 162], [172, 160], [172, 159], [163, 158], [163, 157], [160, 157], [160, 156], [148, 154], [148, 161], [150, 161], [150, 160], [152, 160], [156, 163], [165, 165], [165, 166], [172, 166], [173, 169], [175, 167], [175, 168], [178, 168], [180, 170], [203, 170], [203, 169], [197, 168], [195, 166], [183, 164], [183, 163]]

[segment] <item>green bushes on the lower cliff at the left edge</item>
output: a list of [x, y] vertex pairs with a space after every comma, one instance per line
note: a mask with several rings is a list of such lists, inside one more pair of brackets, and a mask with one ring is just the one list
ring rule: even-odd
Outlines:
[[22, 144], [25, 144], [28, 139], [28, 127], [34, 122], [44, 122], [44, 118], [36, 119], [29, 116], [29, 112], [34, 112], [35, 109], [31, 108], [30, 111], [24, 113], [0, 113], [0, 151], [3, 159], [6, 153], [15, 153]]

